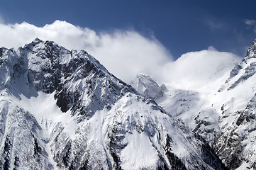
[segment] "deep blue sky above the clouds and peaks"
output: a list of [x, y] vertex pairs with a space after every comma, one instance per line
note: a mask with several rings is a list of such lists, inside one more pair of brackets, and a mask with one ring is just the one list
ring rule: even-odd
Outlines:
[[243, 56], [256, 38], [256, 1], [1, 1], [4, 23], [45, 26], [55, 20], [95, 31], [138, 31], [155, 36], [174, 59], [185, 52], [215, 47]]

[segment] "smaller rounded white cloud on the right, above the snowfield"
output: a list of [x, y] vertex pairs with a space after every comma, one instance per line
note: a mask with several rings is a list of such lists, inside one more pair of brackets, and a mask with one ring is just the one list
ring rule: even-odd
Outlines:
[[[218, 90], [222, 84], [215, 84], [216, 79], [224, 83], [240, 58], [230, 52], [218, 52], [216, 49], [188, 52], [175, 62], [163, 67], [162, 81], [179, 89], [201, 91], [204, 88]], [[224, 77], [223, 77], [224, 76]]]

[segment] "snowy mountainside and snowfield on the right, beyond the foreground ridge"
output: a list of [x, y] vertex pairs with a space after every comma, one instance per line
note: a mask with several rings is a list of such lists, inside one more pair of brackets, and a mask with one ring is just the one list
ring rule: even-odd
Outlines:
[[[182, 60], [189, 63], [184, 58]], [[228, 169], [256, 169], [255, 66], [256, 40], [241, 62], [235, 62], [229, 71], [225, 67], [210, 84], [202, 84], [201, 89], [167, 86], [162, 97], [155, 100], [168, 115], [203, 137]], [[213, 70], [215, 68], [218, 68], [218, 64]], [[187, 82], [187, 79], [183, 81]], [[136, 89], [138, 85], [133, 86]], [[144, 91], [150, 89], [150, 86], [144, 87]]]

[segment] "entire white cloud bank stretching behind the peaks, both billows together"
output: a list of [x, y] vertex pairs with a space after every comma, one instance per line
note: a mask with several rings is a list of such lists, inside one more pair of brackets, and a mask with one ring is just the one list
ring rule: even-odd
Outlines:
[[208, 47], [208, 50], [184, 54], [173, 62], [172, 55], [154, 36], [145, 38], [135, 30], [96, 33], [66, 21], [55, 21], [43, 27], [26, 22], [0, 23], [0, 37], [0, 46], [8, 48], [18, 48], [35, 38], [53, 40], [69, 50], [87, 50], [108, 71], [128, 83], [138, 72], [143, 72], [160, 83], [184, 89], [211, 84], [238, 60], [231, 53]]

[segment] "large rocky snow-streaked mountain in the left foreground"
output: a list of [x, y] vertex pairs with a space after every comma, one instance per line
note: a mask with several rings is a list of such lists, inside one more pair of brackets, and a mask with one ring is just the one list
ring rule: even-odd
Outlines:
[[0, 48], [0, 65], [0, 169], [226, 169], [203, 138], [83, 50], [37, 38]]

